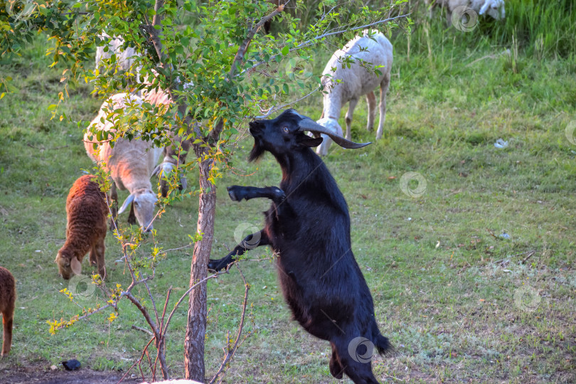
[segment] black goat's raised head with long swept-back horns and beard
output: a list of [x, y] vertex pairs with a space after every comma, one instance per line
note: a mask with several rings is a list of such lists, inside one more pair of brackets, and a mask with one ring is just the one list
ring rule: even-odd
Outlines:
[[[307, 136], [305, 132], [311, 132], [314, 137]], [[370, 144], [350, 142], [294, 110], [285, 110], [275, 119], [250, 122], [250, 134], [254, 137], [250, 161], [258, 159], [265, 151], [274, 156], [282, 156], [307, 147], [319, 146], [322, 142], [320, 134], [326, 134], [343, 148], [356, 149]]]

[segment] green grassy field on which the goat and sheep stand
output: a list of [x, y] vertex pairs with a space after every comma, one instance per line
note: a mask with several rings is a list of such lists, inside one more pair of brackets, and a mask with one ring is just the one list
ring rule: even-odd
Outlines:
[[[348, 201], [353, 252], [380, 330], [396, 348], [373, 362], [380, 381], [576, 381], [576, 144], [570, 142], [576, 50], [562, 30], [556, 31], [562, 44], [537, 49], [538, 36], [530, 31], [543, 27], [522, 24], [518, 3], [507, 3], [503, 25], [484, 21], [470, 33], [422, 20], [410, 36], [410, 56], [407, 36], [393, 36], [383, 139], [358, 151], [333, 146], [325, 159]], [[563, 26], [573, 29], [576, 11], [562, 17], [568, 20]], [[508, 20], [528, 35], [517, 30], [513, 41]], [[48, 69], [45, 48], [38, 38], [22, 58], [1, 68], [19, 91], [0, 101], [0, 265], [18, 280], [14, 346], [0, 371], [44, 370], [68, 358], [92, 370], [126, 370], [147, 342], [131, 329], [145, 324], [127, 302], [112, 323], [106, 315], [93, 316], [48, 333], [46, 321], [79, 311], [58, 293], [69, 283], [58, 277], [53, 260], [65, 240], [68, 189], [92, 164], [82, 130], [50, 120], [46, 108], [58, 98], [61, 71]], [[319, 53], [315, 71], [328, 55]], [[77, 88], [60, 108], [73, 119], [92, 119], [100, 101], [90, 91], [89, 85]], [[298, 109], [318, 118], [320, 96]], [[365, 124], [361, 102], [353, 122], [356, 141], [373, 139]], [[494, 146], [500, 138], [508, 142], [504, 149]], [[242, 142], [233, 159], [241, 170], [235, 172], [250, 176], [227, 172], [218, 181], [213, 257], [235, 245], [238, 225], [262, 226], [269, 204], [234, 203], [224, 187], [279, 182], [271, 156], [247, 164], [251, 146], [251, 139]], [[419, 176], [401, 188], [407, 172]], [[188, 178], [197, 180], [195, 174]], [[155, 240], [165, 250], [188, 244], [197, 213], [196, 198], [174, 204], [156, 223]], [[110, 282], [125, 285], [124, 265], [114, 262], [119, 245], [111, 235], [106, 244]], [[146, 240], [140, 252], [151, 244]], [[271, 252], [258, 248], [250, 255]], [[164, 301], [169, 287], [185, 292], [190, 263], [190, 249], [168, 252], [151, 282], [156, 302]], [[291, 321], [273, 262], [244, 262], [242, 270], [252, 284], [246, 330], [254, 334], [225, 381], [335, 383], [329, 344]], [[220, 365], [226, 331], [238, 326], [243, 288], [235, 270], [208, 284], [208, 375]], [[82, 304], [93, 306], [99, 296]], [[178, 311], [169, 332], [167, 360], [176, 377], [183, 374], [186, 310]]]

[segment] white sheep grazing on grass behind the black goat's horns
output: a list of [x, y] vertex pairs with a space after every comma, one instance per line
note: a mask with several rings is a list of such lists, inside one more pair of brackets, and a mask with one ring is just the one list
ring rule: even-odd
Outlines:
[[[376, 131], [376, 139], [383, 134], [383, 125], [386, 119], [386, 92], [390, 85], [390, 69], [392, 68], [392, 44], [383, 33], [378, 31], [362, 32], [348, 41], [341, 50], [336, 50], [324, 68], [322, 84], [324, 85], [324, 111], [318, 123], [331, 129], [335, 134], [342, 135], [338, 124], [340, 110], [350, 102], [346, 112], [346, 139], [351, 140], [352, 114], [362, 95], [366, 95], [368, 102], [368, 124], [370, 131], [374, 126], [376, 115], [376, 96], [373, 90], [380, 86], [380, 122]], [[353, 63], [348, 68], [348, 57]], [[380, 73], [375, 73], [375, 70]], [[324, 142], [320, 144], [316, 153], [326, 155], [332, 140], [322, 134]]]

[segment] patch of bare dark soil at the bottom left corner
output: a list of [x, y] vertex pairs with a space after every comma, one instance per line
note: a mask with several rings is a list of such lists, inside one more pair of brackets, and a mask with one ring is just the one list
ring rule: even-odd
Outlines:
[[[80, 368], [78, 370], [45, 370], [44, 367], [4, 368], [0, 370], [0, 384], [113, 384], [124, 373], [116, 371], [102, 372]], [[127, 378], [122, 383], [142, 383], [142, 378]]]

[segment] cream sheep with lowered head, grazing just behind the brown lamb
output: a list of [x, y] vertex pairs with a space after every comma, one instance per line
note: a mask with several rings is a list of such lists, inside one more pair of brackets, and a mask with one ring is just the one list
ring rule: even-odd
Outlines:
[[[127, 93], [119, 93], [110, 97], [102, 104], [100, 112], [92, 120], [90, 126], [95, 125], [97, 130], [114, 132], [114, 124], [106, 119], [111, 110], [126, 107], [127, 105], [142, 105], [142, 98]], [[101, 121], [104, 119], [104, 122]], [[112, 218], [121, 214], [130, 206], [128, 223], [136, 224], [136, 220], [142, 226], [144, 232], [153, 229], [152, 220], [154, 218], [154, 204], [156, 203], [156, 193], [152, 191], [150, 177], [154, 166], [163, 149], [154, 147], [144, 140], [128, 140], [119, 137], [114, 146], [110, 142], [96, 142], [90, 140], [90, 132], [84, 135], [84, 146], [86, 153], [93, 161], [102, 164], [105, 171], [110, 171], [110, 176], [114, 183], [110, 188], [112, 201], [118, 201], [117, 188], [128, 190], [127, 197], [122, 207], [116, 213], [116, 204], [112, 205]], [[94, 149], [93, 144], [99, 144]], [[113, 228], [113, 224], [112, 227]]]

